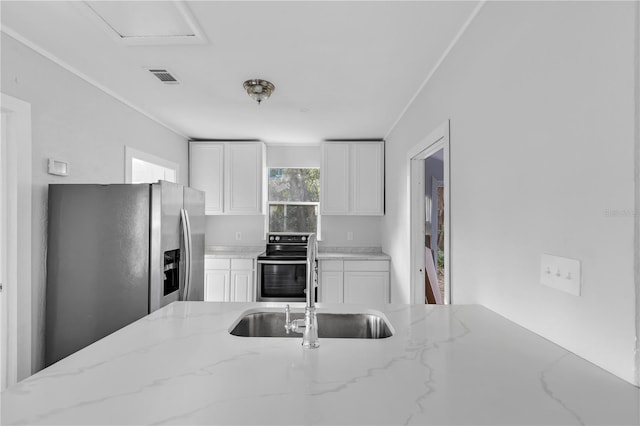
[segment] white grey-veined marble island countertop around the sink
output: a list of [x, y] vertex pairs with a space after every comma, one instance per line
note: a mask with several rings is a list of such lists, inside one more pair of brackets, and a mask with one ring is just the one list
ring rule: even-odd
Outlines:
[[640, 423], [640, 389], [481, 306], [374, 307], [394, 336], [317, 350], [230, 335], [255, 308], [282, 305], [175, 302], [4, 391], [2, 424]]

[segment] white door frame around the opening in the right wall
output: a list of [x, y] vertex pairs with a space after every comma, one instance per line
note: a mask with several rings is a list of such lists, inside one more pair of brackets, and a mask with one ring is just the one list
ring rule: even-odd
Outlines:
[[444, 161], [444, 303], [451, 303], [451, 226], [450, 226], [450, 120], [446, 120], [421, 140], [407, 155], [409, 164], [409, 202], [410, 202], [410, 270], [411, 270], [411, 303], [424, 304], [424, 260], [426, 250], [425, 235], [425, 168], [424, 160], [439, 150], [443, 150]]

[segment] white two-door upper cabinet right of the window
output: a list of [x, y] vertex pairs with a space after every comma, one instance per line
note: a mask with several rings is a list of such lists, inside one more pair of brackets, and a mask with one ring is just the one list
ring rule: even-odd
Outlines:
[[384, 214], [384, 142], [324, 142], [320, 207], [325, 215]]

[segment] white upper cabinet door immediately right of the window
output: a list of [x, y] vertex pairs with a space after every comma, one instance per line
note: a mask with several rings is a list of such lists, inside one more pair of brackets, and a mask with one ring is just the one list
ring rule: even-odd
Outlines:
[[349, 143], [322, 144], [320, 208], [322, 214], [349, 213]]

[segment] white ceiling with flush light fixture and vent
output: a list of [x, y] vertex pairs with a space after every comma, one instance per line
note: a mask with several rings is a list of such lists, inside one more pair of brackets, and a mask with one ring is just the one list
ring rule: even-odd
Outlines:
[[[176, 17], [191, 20], [191, 32], [199, 35], [183, 38], [191, 43], [171, 37], [123, 42], [84, 2], [3, 0], [0, 7], [7, 34], [187, 138], [304, 144], [384, 138], [476, 4], [170, 4]], [[164, 12], [141, 20], [133, 9], [101, 13], [127, 18], [127, 31], [151, 32], [144, 23]], [[163, 84], [149, 68], [169, 70], [179, 84]], [[261, 105], [242, 87], [251, 78], [276, 86]]]

